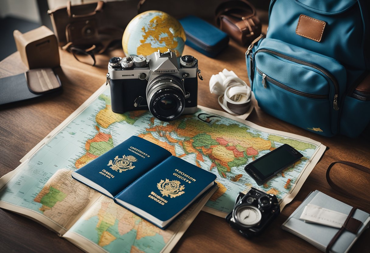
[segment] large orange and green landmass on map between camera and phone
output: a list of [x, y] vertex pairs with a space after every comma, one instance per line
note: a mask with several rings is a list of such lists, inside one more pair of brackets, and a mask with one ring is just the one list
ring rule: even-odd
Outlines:
[[[227, 178], [231, 176], [231, 168], [245, 165], [249, 158], [271, 148], [271, 141], [249, 130], [250, 128], [241, 124], [203, 122], [195, 117], [185, 116], [179, 121], [151, 124], [139, 136], [163, 147], [166, 143], [181, 146], [186, 155], [197, 155], [195, 163], [198, 166], [201, 157], [206, 156], [214, 163], [219, 175]], [[155, 134], [166, 137], [167, 141], [156, 139]]]

